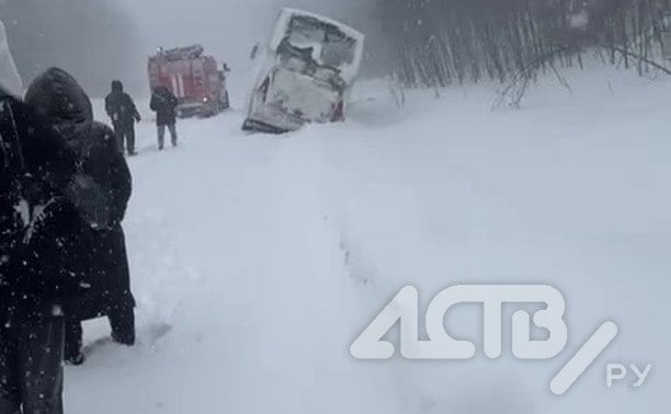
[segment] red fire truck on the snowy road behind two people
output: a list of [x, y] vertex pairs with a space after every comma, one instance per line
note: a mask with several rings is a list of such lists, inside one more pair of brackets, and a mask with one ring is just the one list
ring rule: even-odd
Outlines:
[[230, 106], [226, 89], [226, 64], [203, 54], [201, 45], [162, 48], [149, 57], [151, 89], [166, 87], [179, 99], [178, 116], [213, 116]]

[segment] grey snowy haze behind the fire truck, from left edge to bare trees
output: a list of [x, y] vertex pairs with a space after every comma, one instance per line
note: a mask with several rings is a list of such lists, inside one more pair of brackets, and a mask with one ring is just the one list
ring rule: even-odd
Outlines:
[[[341, 19], [363, 31], [374, 0], [0, 0], [19, 71], [29, 81], [52, 66], [76, 76], [102, 96], [110, 80], [122, 79], [148, 93], [147, 57], [157, 47], [195, 43], [237, 76], [250, 69], [249, 55], [264, 42], [283, 7]], [[237, 79], [240, 80], [240, 79]]]

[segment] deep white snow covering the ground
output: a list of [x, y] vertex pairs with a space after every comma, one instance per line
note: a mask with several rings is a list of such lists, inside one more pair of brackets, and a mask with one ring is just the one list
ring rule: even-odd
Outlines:
[[[490, 85], [398, 108], [385, 82], [362, 82], [344, 124], [246, 135], [236, 110], [180, 123], [162, 153], [147, 114], [125, 222], [140, 343], [68, 368], [68, 412], [666, 412], [671, 81], [598, 69], [567, 73], [573, 94], [542, 79], [522, 110], [493, 113]], [[559, 288], [565, 353], [514, 360], [507, 333], [498, 360], [349, 355], [402, 286], [425, 307], [476, 283]], [[605, 320], [616, 342], [551, 395]], [[481, 343], [477, 307], [447, 323]], [[87, 325], [87, 343], [106, 334]], [[653, 369], [606, 389], [613, 361]]]

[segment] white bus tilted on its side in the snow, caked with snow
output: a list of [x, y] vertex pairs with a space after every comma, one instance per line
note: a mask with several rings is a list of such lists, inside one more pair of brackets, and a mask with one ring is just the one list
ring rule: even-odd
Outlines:
[[244, 130], [282, 134], [343, 120], [364, 35], [334, 20], [284, 9], [248, 102]]

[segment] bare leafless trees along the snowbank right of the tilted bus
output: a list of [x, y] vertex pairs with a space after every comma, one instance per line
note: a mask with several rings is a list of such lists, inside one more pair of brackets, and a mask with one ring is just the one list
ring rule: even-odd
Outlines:
[[406, 87], [509, 82], [585, 50], [640, 72], [663, 70], [670, 0], [377, 0]]

